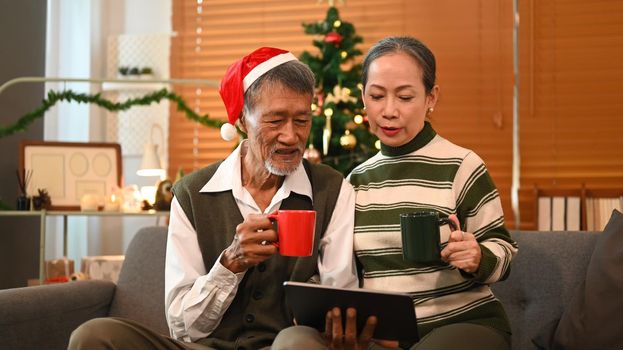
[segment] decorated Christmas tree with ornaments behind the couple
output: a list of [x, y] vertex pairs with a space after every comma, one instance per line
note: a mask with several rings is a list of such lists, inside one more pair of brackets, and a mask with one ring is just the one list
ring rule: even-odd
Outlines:
[[326, 18], [303, 23], [305, 33], [321, 37], [313, 40], [319, 53], [308, 51], [300, 60], [316, 76], [316, 97], [312, 105], [313, 122], [305, 158], [325, 163], [348, 174], [378, 152], [377, 138], [368, 129], [361, 101], [361, 64], [355, 59], [362, 53], [355, 46], [363, 39], [355, 27], [340, 19], [330, 5]]

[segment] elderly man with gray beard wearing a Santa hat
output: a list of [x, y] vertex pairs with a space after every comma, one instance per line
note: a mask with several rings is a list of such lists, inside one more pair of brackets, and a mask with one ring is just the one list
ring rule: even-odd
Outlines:
[[[236, 124], [248, 139], [174, 186], [165, 271], [171, 337], [97, 319], [72, 334], [70, 348], [269, 347], [293, 321], [284, 281], [357, 287], [353, 189], [303, 160], [313, 89], [310, 69], [287, 51], [260, 48], [229, 67], [220, 94], [230, 124], [221, 134], [235, 137]], [[317, 212], [312, 256], [281, 256], [267, 244], [278, 240], [267, 218], [277, 209]]]

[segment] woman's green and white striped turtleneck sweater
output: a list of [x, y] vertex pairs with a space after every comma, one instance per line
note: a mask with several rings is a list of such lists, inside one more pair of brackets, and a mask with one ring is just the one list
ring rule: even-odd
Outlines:
[[[355, 253], [364, 288], [410, 294], [421, 336], [455, 322], [510, 333], [489, 284], [506, 278], [517, 245], [504, 227], [499, 194], [480, 157], [437, 135], [426, 122], [414, 140], [398, 148], [382, 145], [349, 178], [357, 193]], [[442, 217], [457, 214], [462, 230], [481, 246], [476, 274], [402, 259], [400, 214], [419, 209]], [[449, 234], [442, 227], [442, 247]]]

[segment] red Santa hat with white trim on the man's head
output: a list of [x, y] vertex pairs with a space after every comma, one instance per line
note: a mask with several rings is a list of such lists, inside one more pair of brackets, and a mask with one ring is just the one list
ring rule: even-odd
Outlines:
[[242, 112], [244, 93], [249, 86], [269, 70], [293, 60], [296, 60], [296, 57], [288, 51], [262, 47], [227, 68], [219, 89], [229, 119], [229, 123], [221, 126], [221, 137], [225, 141], [231, 141], [236, 137], [234, 124]]

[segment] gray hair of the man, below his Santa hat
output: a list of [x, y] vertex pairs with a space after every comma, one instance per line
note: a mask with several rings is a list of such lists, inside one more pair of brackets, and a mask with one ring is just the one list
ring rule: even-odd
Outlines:
[[288, 61], [264, 73], [249, 86], [244, 93], [243, 115], [255, 109], [264, 88], [277, 84], [300, 94], [314, 95], [315, 79], [311, 69], [300, 61]]

